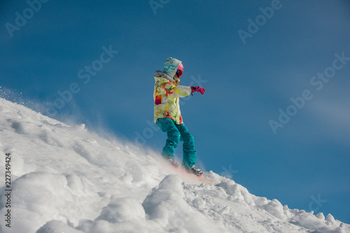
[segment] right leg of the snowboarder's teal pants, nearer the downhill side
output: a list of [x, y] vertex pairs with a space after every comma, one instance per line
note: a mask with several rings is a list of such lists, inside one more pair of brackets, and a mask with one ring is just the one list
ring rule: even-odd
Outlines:
[[176, 125], [181, 134], [181, 141], [183, 141], [183, 166], [192, 167], [197, 160], [197, 152], [195, 150], [195, 138], [190, 131], [188, 131], [186, 125]]

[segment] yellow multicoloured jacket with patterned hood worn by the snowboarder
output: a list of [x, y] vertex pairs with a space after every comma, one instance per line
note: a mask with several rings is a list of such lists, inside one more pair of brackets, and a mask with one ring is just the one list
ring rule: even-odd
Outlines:
[[164, 64], [164, 72], [155, 71], [154, 122], [158, 118], [171, 118], [177, 125], [183, 123], [181, 117], [179, 97], [191, 94], [191, 87], [176, 86], [174, 76], [181, 61], [169, 57]]

